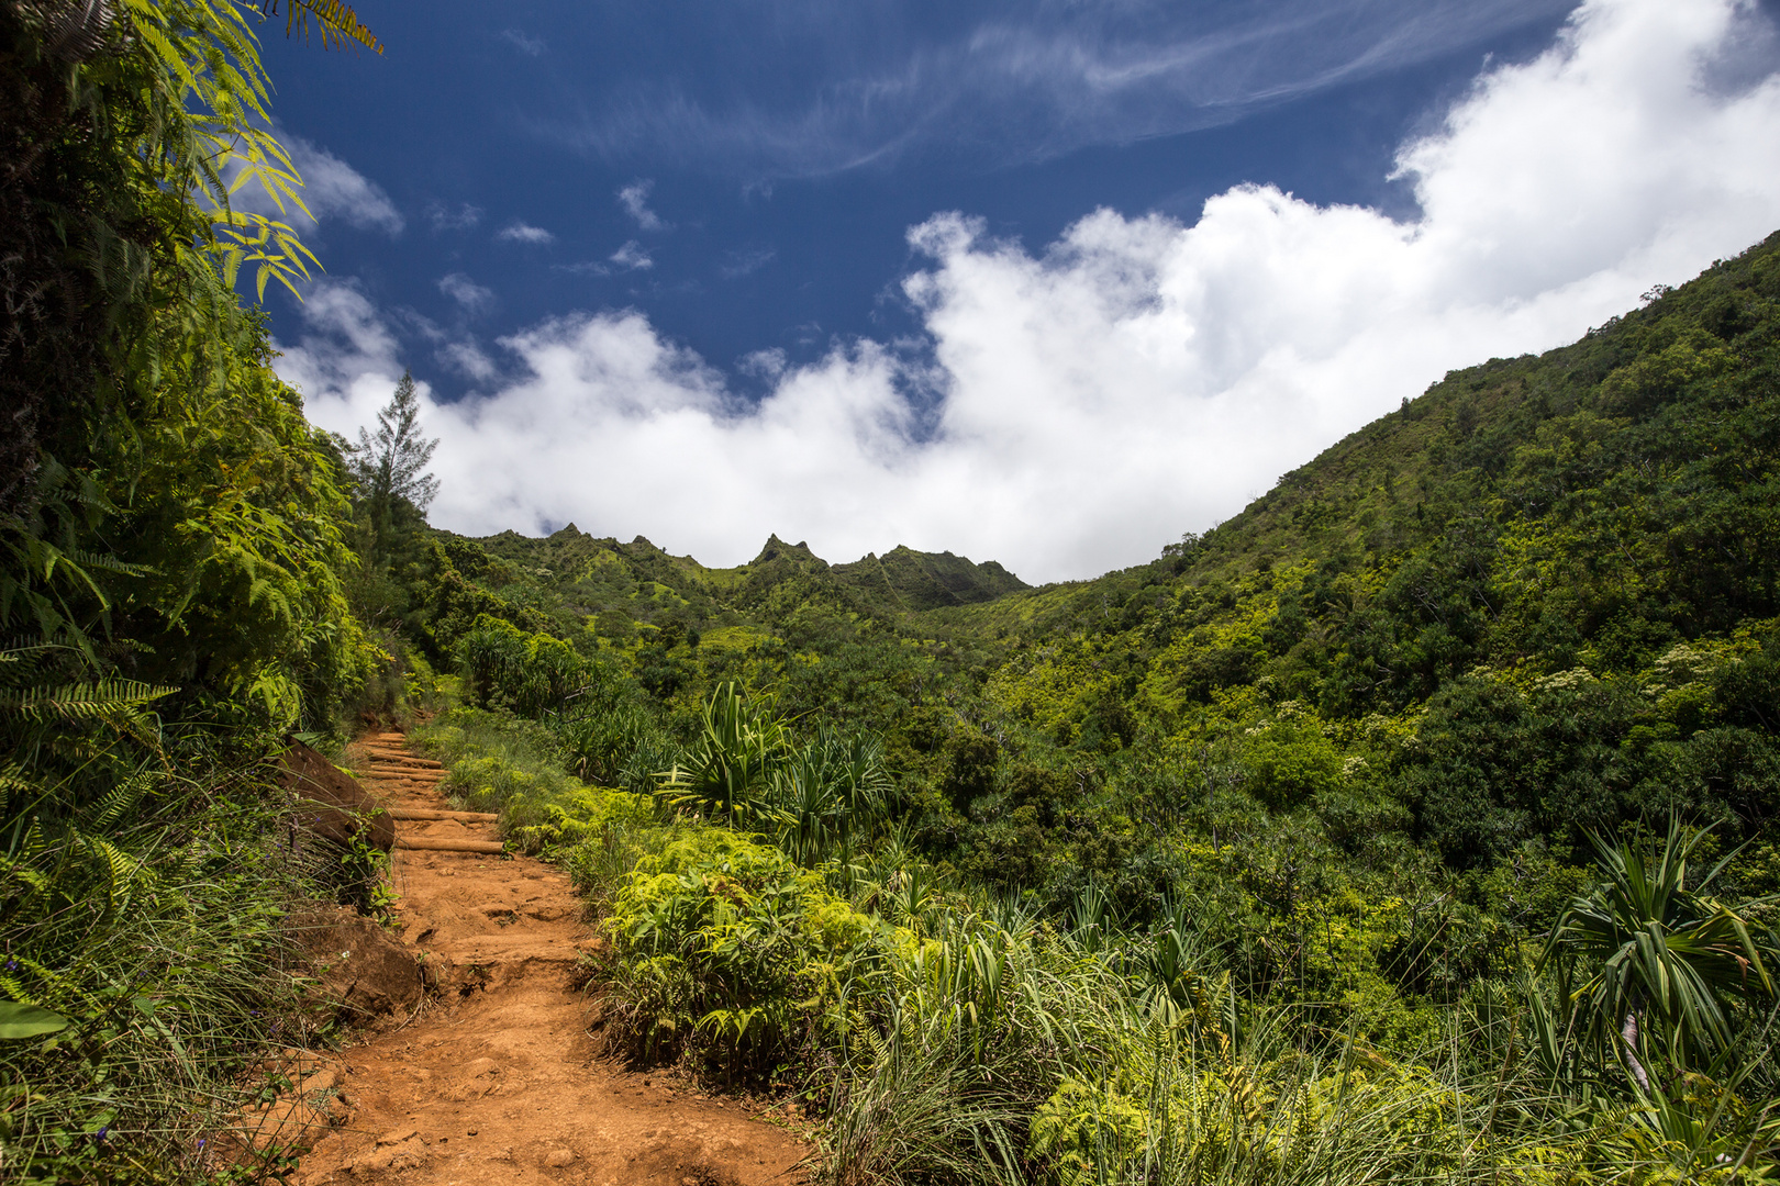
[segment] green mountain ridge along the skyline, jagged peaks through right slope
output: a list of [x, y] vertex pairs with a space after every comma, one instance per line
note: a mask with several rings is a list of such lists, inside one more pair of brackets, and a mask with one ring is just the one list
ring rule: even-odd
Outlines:
[[[570, 528], [463, 546], [511, 565], [472, 581], [500, 599], [477, 612], [609, 651], [669, 711], [742, 679], [881, 731], [934, 827], [956, 820], [949, 859], [1015, 884], [1082, 861], [1048, 832], [991, 861], [1022, 770], [1048, 772], [1047, 820], [1095, 786], [1143, 816], [1187, 752], [1221, 756], [1232, 802], [1452, 868], [1670, 809], [1753, 836], [1780, 809], [1776, 299], [1780, 236], [1568, 347], [1451, 372], [1086, 581], [776, 535], [733, 569]], [[1253, 736], [1317, 757], [1282, 773]]]

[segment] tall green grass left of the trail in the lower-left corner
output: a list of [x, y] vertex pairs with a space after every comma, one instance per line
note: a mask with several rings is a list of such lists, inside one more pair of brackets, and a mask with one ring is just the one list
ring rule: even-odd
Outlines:
[[0, 1179], [203, 1177], [258, 1069], [303, 1042], [279, 921], [306, 889], [249, 757], [187, 752], [128, 811], [0, 837], [0, 992], [66, 1021], [0, 1040]]

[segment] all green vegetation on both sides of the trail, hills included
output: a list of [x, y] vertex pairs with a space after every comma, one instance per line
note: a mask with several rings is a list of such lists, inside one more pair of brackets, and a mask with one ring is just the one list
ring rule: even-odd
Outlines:
[[0, 7], [5, 1174], [281, 1166], [267, 759], [424, 702], [614, 1049], [837, 1182], [1780, 1175], [1780, 236], [1093, 581], [472, 541], [235, 292], [308, 260], [247, 12]]

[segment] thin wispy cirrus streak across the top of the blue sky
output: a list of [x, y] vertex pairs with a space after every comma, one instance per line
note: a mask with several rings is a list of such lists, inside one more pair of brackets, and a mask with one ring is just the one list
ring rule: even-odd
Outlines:
[[609, 158], [648, 151], [749, 178], [833, 172], [917, 149], [970, 151], [1006, 165], [1219, 126], [1556, 20], [1568, 7], [1006, 0], [972, 9], [949, 36], [899, 37], [885, 36], [886, 21], [901, 28], [892, 18], [837, 20], [821, 7], [787, 5], [783, 37], [805, 50], [797, 57], [806, 82], [714, 91], [696, 76], [628, 78], [589, 94], [575, 123], [541, 123]]

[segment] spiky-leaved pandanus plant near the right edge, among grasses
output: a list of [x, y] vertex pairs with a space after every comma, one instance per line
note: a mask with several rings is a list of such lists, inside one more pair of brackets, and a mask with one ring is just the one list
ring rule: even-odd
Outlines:
[[1780, 951], [1752, 916], [1768, 900], [1732, 907], [1711, 893], [1741, 848], [1689, 885], [1709, 832], [1671, 821], [1654, 861], [1595, 837], [1600, 880], [1565, 909], [1540, 960], [1561, 966], [1565, 1028], [1646, 1095], [1657, 1060], [1677, 1074], [1709, 1067], [1732, 1047], [1730, 1010], [1775, 994]]

